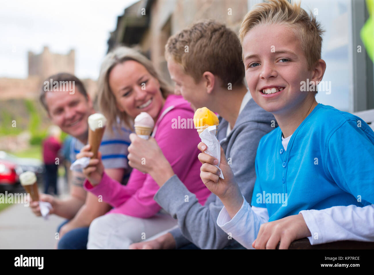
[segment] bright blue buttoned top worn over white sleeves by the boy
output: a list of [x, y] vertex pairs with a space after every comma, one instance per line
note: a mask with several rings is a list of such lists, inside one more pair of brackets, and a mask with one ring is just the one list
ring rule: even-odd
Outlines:
[[286, 147], [282, 152], [276, 128], [257, 149], [251, 204], [266, 207], [269, 221], [302, 210], [374, 203], [374, 133], [359, 117], [318, 104]]

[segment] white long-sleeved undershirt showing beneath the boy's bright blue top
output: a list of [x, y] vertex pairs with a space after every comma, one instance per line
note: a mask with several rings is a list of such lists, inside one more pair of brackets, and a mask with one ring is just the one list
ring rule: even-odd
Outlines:
[[[282, 137], [285, 150], [290, 138]], [[365, 207], [334, 206], [300, 213], [312, 234], [307, 237], [311, 245], [343, 240], [374, 241], [374, 204]], [[232, 219], [225, 207], [217, 218], [218, 226], [248, 249], [253, 249], [252, 242], [257, 238], [261, 224], [267, 222], [267, 208], [251, 207], [244, 197], [242, 207]]]

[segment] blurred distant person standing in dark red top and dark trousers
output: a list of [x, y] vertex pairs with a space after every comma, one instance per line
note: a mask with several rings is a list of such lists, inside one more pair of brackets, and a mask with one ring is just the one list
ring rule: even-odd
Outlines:
[[61, 130], [57, 126], [50, 126], [49, 136], [43, 140], [43, 161], [45, 165], [44, 174], [44, 193], [49, 194], [49, 187], [53, 188], [55, 195], [57, 192], [57, 169], [58, 169], [58, 151], [61, 149], [60, 134]]

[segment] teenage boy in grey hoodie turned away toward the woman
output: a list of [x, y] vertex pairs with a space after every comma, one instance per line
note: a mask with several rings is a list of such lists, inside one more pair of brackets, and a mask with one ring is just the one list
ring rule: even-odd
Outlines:
[[[235, 178], [241, 183], [240, 190], [250, 199], [258, 142], [277, 125], [274, 116], [260, 108], [245, 87], [239, 39], [225, 25], [204, 20], [170, 37], [165, 49], [175, 93], [181, 94], [194, 109], [206, 106], [220, 114], [217, 138], [230, 158]], [[188, 248], [195, 249], [238, 247], [217, 226], [218, 213], [223, 207], [220, 199], [212, 194], [204, 206], [200, 205], [174, 174], [154, 139], [144, 141], [136, 135], [130, 138], [129, 165], [155, 179], [160, 189], [154, 200], [178, 220], [179, 226], [153, 241], [132, 244], [130, 248], [170, 249], [190, 243], [193, 244]], [[148, 156], [145, 165], [141, 163], [144, 155]]]

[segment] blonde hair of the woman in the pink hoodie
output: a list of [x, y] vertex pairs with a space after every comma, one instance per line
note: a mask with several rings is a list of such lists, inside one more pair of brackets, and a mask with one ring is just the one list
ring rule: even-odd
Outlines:
[[[135, 51], [134, 49], [120, 46], [115, 48], [113, 51], [109, 52], [104, 61], [101, 64], [100, 76], [99, 76], [99, 91], [98, 91], [98, 101], [99, 107], [107, 118], [107, 127], [110, 131], [113, 130], [113, 124], [118, 128], [122, 122], [125, 123], [130, 129], [132, 129], [132, 123], [129, 119], [128, 114], [118, 110], [116, 105], [116, 98], [109, 86], [109, 74], [111, 70], [118, 64], [122, 64], [125, 61], [133, 60], [142, 64], [154, 78], [156, 78], [160, 83], [160, 90], [163, 98], [166, 98], [171, 94], [171, 89], [166, 84], [166, 82], [160, 78], [159, 74], [153, 67], [152, 62], [146, 58], [144, 55]], [[120, 123], [117, 123], [117, 117]]]

